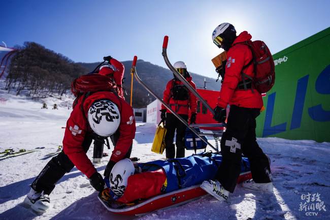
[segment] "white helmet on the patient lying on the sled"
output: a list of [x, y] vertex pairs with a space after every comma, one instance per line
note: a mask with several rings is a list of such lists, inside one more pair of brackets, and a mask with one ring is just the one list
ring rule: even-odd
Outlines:
[[127, 179], [134, 174], [134, 164], [128, 158], [121, 160], [113, 166], [110, 173], [110, 188], [117, 196], [124, 194]]

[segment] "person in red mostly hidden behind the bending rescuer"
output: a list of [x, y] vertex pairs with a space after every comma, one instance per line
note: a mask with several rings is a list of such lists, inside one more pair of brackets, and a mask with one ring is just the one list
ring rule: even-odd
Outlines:
[[113, 78], [119, 89], [118, 96], [125, 99], [122, 88], [122, 81], [125, 72], [125, 67], [121, 62], [119, 62], [115, 58], [112, 58], [111, 56], [107, 56], [105, 57], [105, 59], [109, 61], [107, 64], [104, 64], [100, 67], [98, 74]]

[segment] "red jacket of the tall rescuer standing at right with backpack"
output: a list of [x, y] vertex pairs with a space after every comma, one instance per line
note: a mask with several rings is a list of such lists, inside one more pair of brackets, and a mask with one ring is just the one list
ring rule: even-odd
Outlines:
[[261, 108], [263, 106], [261, 94], [256, 89], [238, 89], [237, 85], [242, 81], [241, 73], [253, 77], [253, 64], [243, 69], [252, 59], [252, 52], [247, 45], [237, 44], [251, 40], [252, 36], [246, 31], [242, 32], [234, 41], [227, 52], [227, 64], [224, 80], [222, 82], [220, 96], [217, 105], [226, 108], [228, 104], [245, 108]]

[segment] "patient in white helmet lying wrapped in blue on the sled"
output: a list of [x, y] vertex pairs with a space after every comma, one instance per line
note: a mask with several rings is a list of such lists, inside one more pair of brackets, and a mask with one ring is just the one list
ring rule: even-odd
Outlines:
[[[101, 197], [108, 202], [127, 204], [201, 184], [214, 178], [221, 161], [222, 156], [212, 152], [139, 164], [123, 159], [115, 164], [110, 177], [105, 178], [108, 188], [101, 193]], [[249, 161], [242, 158], [241, 164], [242, 178], [239, 182], [250, 178]]]

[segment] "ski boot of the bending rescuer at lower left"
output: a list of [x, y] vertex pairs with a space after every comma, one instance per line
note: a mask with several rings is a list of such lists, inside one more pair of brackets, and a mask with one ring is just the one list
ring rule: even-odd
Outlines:
[[33, 188], [24, 199], [24, 203], [29, 205], [36, 212], [45, 212], [50, 207], [50, 199], [44, 192], [38, 193]]

